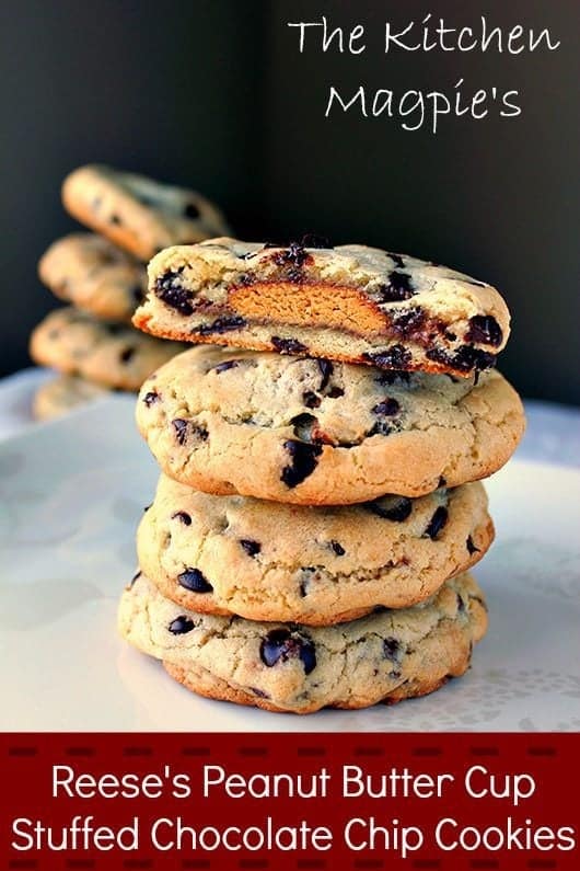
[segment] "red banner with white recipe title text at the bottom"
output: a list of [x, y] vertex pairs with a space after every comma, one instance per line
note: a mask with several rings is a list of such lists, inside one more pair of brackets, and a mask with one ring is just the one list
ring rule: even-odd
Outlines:
[[3, 734], [11, 869], [578, 869], [578, 735]]

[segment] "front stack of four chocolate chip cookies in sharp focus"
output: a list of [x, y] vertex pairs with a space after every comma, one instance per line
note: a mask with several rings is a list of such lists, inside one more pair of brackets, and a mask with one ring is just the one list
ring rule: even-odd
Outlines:
[[497, 290], [361, 245], [223, 238], [158, 254], [134, 323], [198, 344], [139, 396], [162, 475], [121, 634], [195, 692], [271, 711], [462, 675], [487, 626], [479, 479], [524, 428], [494, 369]]

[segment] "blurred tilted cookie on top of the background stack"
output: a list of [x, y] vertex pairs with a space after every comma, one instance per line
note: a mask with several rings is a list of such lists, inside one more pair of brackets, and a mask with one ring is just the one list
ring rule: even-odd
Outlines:
[[62, 202], [81, 224], [144, 262], [167, 245], [228, 232], [221, 211], [196, 191], [96, 163], [65, 179]]

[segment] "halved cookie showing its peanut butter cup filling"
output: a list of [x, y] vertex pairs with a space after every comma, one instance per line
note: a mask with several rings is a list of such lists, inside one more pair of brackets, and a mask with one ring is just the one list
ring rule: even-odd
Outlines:
[[225, 238], [163, 251], [134, 323], [165, 339], [385, 369], [494, 366], [510, 329], [494, 287], [406, 254], [315, 244]]

